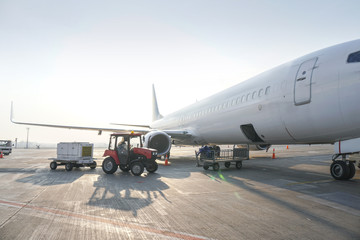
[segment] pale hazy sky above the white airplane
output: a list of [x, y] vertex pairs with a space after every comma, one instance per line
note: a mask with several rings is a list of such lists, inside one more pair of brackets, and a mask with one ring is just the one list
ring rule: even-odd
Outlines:
[[[360, 38], [358, 0], [0, 0], [0, 139], [41, 123], [149, 124], [315, 50]], [[109, 133], [30, 127], [29, 141]]]

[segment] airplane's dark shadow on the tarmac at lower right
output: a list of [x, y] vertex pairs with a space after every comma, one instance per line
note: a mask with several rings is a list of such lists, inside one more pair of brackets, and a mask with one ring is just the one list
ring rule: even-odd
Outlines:
[[[329, 229], [334, 229], [343, 236], [349, 237], [351, 239], [354, 238], [354, 236], [359, 236], [357, 229], [350, 229], [347, 226], [339, 225], [330, 219], [317, 215], [316, 212], [312, 212], [309, 209], [303, 208], [300, 204], [297, 204], [296, 201], [283, 198], [282, 195], [272, 194], [273, 189], [286, 189], [295, 192], [299, 196], [309, 195], [324, 201], [331, 201], [334, 205], [339, 204], [340, 206], [342, 204], [344, 205], [344, 202], [349, 203], [350, 205], [347, 207], [350, 209], [353, 208], [355, 211], [359, 212], [360, 207], [355, 204], [358, 199], [356, 194], [352, 195], [351, 193], [346, 192], [336, 192], [339, 199], [329, 200], [326, 198], [326, 196], [333, 194], [333, 190], [323, 189], [323, 184], [332, 184], [332, 186], [335, 185], [339, 189], [345, 185], [350, 184], [356, 189], [359, 187], [359, 180], [355, 179], [349, 181], [337, 181], [332, 179], [330, 173], [322, 174], [316, 171], [312, 172], [302, 169], [293, 169], [291, 167], [296, 165], [296, 163], [291, 162], [291, 160], [298, 160], [299, 157], [291, 157], [286, 159], [290, 160], [290, 163], [288, 163], [286, 166], [277, 167], [276, 165], [274, 166], [269, 163], [263, 166], [261, 169], [259, 163], [255, 161], [251, 163], [250, 160], [245, 161], [241, 170], [237, 170], [235, 168], [224, 168], [222, 165], [218, 172], [210, 170], [203, 171], [203, 174], [209, 177], [212, 181], [227, 182], [237, 186], [239, 191], [234, 193], [235, 198], [241, 199], [241, 191], [245, 190], [247, 192], [253, 193], [255, 196], [265, 200], [266, 202], [272, 202], [274, 205], [279, 206], [280, 208], [285, 208], [287, 211], [291, 211], [296, 215], [304, 217], [305, 219], [311, 219], [311, 221], [317, 222], [323, 226], [327, 226]], [[326, 157], [324, 157], [324, 159], [326, 159]], [[309, 162], [307, 162], [307, 164], [309, 164]], [[327, 166], [325, 162], [321, 163], [319, 161], [317, 163], [311, 163], [311, 165]], [[359, 173], [359, 171], [357, 172]], [[323, 194], [319, 194], [319, 192], [322, 192]], [[292, 198], [292, 200], [294, 199]]]

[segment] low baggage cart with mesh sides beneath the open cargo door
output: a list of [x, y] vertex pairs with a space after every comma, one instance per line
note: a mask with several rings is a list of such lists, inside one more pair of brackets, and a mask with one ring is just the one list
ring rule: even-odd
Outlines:
[[220, 150], [219, 147], [202, 147], [199, 151], [195, 151], [196, 166], [203, 167], [208, 170], [212, 167], [214, 171], [220, 169], [220, 163], [224, 163], [229, 168], [231, 163], [235, 163], [237, 169], [242, 168], [242, 161], [249, 159], [249, 147], [233, 148]]

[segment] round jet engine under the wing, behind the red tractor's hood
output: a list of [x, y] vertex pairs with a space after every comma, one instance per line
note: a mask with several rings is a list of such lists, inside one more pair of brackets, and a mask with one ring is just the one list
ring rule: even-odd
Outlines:
[[158, 151], [158, 156], [170, 152], [171, 137], [163, 131], [152, 131], [144, 136], [144, 147], [153, 148]]

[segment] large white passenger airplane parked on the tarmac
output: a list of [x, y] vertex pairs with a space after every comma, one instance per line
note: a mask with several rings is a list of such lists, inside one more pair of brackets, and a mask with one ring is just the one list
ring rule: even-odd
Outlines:
[[[153, 122], [138, 127], [144, 145], [160, 155], [172, 144], [334, 144], [330, 166], [337, 180], [355, 175], [347, 155], [360, 152], [360, 39], [282, 64], [170, 115], [162, 116], [153, 86]], [[68, 129], [120, 128], [26, 123]], [[341, 159], [339, 159], [341, 157]]]

